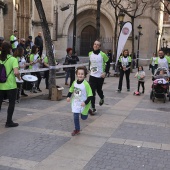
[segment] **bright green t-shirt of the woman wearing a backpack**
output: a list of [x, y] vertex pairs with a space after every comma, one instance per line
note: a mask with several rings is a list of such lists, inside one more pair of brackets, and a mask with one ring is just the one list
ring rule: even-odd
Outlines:
[[[18, 61], [15, 57], [8, 55], [7, 58], [9, 59], [7, 60], [6, 63], [5, 61], [0, 60], [1, 64], [5, 63], [4, 65], [6, 68], [6, 75], [8, 75], [10, 71], [13, 70], [14, 68], [18, 68]], [[16, 78], [14, 75], [14, 71], [12, 71], [9, 74], [7, 81], [5, 83], [0, 83], [0, 90], [11, 90], [16, 88], [17, 88]]]

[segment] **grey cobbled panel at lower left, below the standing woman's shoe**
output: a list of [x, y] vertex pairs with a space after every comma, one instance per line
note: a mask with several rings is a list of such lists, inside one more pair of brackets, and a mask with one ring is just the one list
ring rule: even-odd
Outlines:
[[42, 161], [69, 139], [15, 129], [1, 135], [0, 156]]

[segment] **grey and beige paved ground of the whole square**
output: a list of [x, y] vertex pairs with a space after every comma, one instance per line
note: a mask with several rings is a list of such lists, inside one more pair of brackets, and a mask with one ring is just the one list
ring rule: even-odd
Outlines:
[[[152, 81], [147, 68], [146, 73], [141, 96], [133, 95], [134, 73], [131, 92], [124, 81], [122, 93], [116, 93], [119, 79], [106, 78], [105, 104], [97, 104], [97, 114], [81, 121], [81, 134], [75, 137], [70, 104], [66, 97], [49, 101], [44, 81], [42, 93], [27, 92], [29, 96], [16, 104], [13, 118], [19, 127], [4, 128], [8, 103], [3, 103], [0, 170], [169, 170], [170, 102], [149, 99]], [[64, 86], [66, 96], [64, 79], [57, 84]]]

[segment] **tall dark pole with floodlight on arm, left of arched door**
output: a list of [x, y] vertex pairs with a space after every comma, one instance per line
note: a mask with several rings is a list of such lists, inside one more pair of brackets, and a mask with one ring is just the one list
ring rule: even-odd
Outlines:
[[74, 5], [74, 24], [73, 24], [73, 54], [76, 52], [76, 23], [77, 23], [77, 1], [74, 0], [74, 4], [67, 4], [60, 8], [61, 11], [65, 11], [70, 8], [70, 5]]

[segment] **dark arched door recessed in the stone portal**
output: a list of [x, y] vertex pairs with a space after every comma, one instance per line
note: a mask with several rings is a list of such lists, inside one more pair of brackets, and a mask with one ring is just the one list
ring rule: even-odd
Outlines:
[[91, 25], [86, 26], [81, 32], [80, 55], [87, 56], [93, 49], [93, 43], [96, 40], [96, 28]]

